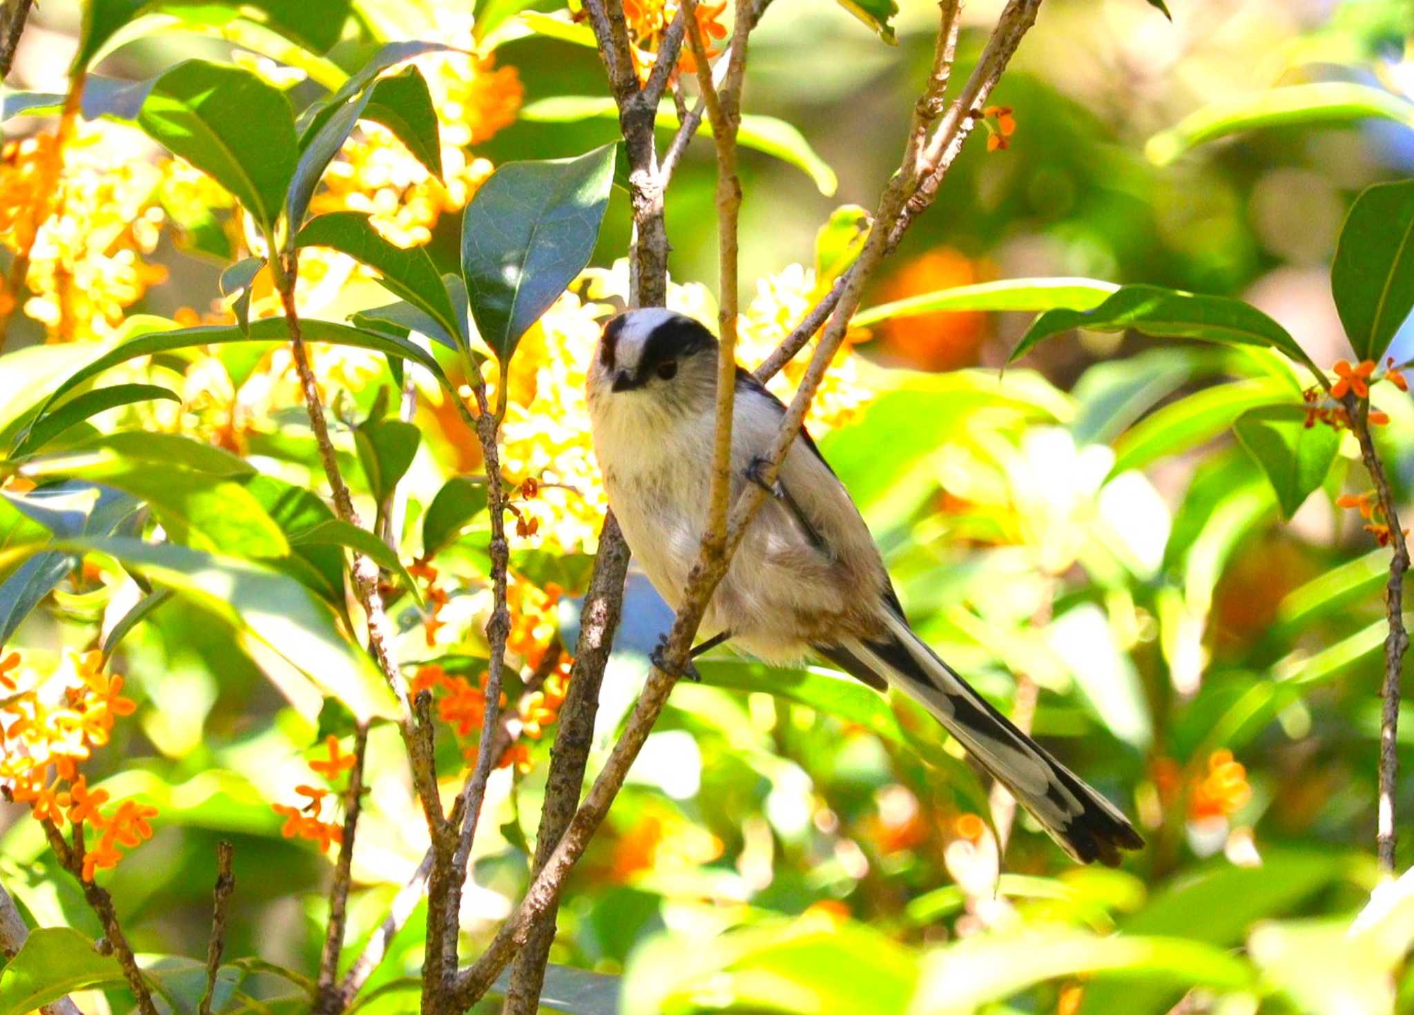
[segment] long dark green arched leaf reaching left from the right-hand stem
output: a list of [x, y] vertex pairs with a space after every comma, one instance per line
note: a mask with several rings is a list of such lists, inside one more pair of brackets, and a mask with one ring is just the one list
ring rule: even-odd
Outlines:
[[1280, 349], [1312, 373], [1321, 369], [1287, 329], [1241, 300], [1195, 295], [1161, 286], [1126, 286], [1094, 310], [1051, 310], [1038, 317], [1007, 358], [1014, 363], [1042, 339], [1073, 328], [1138, 331], [1158, 338], [1200, 338]]

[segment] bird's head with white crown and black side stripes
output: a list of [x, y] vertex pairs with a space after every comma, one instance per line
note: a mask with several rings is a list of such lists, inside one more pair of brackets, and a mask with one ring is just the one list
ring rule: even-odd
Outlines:
[[590, 369], [592, 397], [687, 404], [715, 387], [717, 339], [670, 310], [629, 310], [604, 325]]

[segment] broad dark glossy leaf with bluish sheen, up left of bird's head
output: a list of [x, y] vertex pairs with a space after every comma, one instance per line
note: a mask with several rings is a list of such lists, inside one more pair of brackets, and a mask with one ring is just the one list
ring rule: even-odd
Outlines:
[[506, 163], [467, 205], [461, 273], [482, 341], [502, 366], [594, 253], [614, 146], [578, 158]]

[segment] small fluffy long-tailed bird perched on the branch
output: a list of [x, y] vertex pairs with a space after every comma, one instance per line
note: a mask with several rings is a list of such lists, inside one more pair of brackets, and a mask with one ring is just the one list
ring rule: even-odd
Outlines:
[[[707, 524], [717, 338], [663, 308], [611, 318], [585, 372], [594, 455], [632, 557], [682, 606]], [[908, 623], [864, 517], [806, 430], [773, 482], [765, 458], [786, 409], [737, 368], [731, 499], [769, 495], [717, 585], [691, 656], [724, 642], [776, 666], [820, 657], [926, 708], [1075, 861], [1120, 864], [1144, 838], [1096, 789], [1015, 727]], [[655, 653], [660, 660], [662, 653]], [[676, 676], [694, 676], [691, 663]]]

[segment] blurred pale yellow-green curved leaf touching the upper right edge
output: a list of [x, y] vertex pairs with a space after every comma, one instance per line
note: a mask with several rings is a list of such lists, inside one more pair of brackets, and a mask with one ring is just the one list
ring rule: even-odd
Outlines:
[[1144, 147], [1150, 161], [1168, 165], [1192, 147], [1227, 134], [1281, 124], [1352, 123], [1380, 117], [1414, 126], [1414, 103], [1369, 85], [1343, 81], [1273, 88], [1189, 113]]

